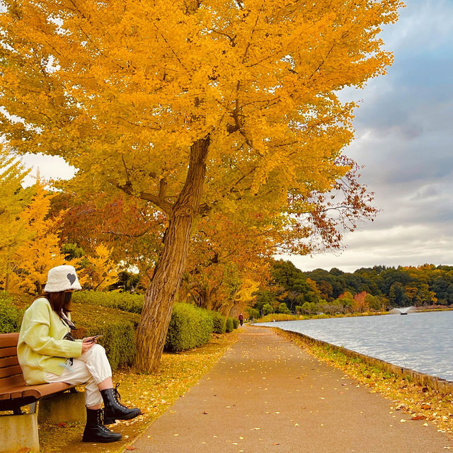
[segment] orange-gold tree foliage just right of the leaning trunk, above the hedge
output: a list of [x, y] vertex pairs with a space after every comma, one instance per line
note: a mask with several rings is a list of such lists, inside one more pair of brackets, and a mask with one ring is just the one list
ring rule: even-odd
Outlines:
[[240, 304], [236, 294], [246, 280], [264, 284], [275, 239], [249, 217], [239, 221], [234, 215], [212, 212], [197, 222], [180, 288], [181, 299], [190, 292], [198, 306], [214, 310], [222, 307], [222, 313], [229, 315], [229, 307]]

